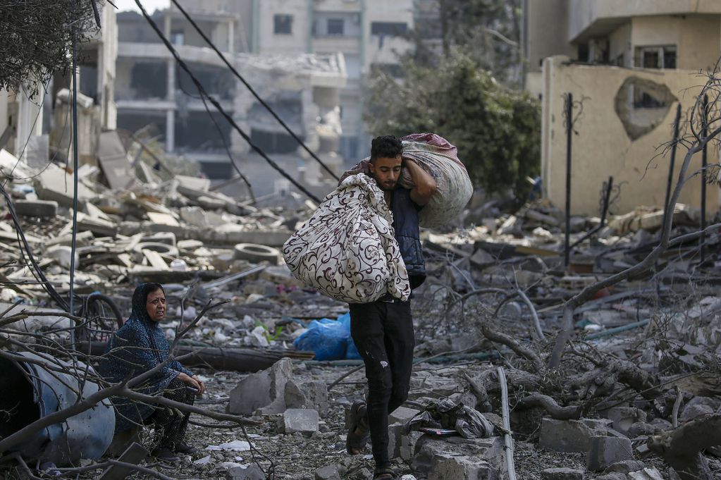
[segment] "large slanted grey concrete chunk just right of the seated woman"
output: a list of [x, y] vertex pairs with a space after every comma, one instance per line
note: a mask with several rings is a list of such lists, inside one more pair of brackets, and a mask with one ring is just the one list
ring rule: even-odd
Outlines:
[[261, 415], [282, 413], [286, 410], [286, 383], [293, 374], [293, 363], [283, 358], [267, 370], [243, 378], [230, 392], [229, 413]]

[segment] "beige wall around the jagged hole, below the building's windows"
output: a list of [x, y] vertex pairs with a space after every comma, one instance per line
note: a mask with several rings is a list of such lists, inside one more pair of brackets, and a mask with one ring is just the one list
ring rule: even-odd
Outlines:
[[[671, 141], [677, 104], [674, 102], [668, 108], [655, 130], [632, 141], [616, 114], [614, 99], [624, 81], [636, 76], [667, 85], [687, 110], [702, 84], [696, 73], [564, 65], [565, 61], [565, 57], [544, 61], [541, 169], [547, 197], [559, 207], [565, 205], [566, 133], [562, 95], [571, 92], [575, 99], [583, 99], [583, 115], [575, 126], [578, 135], [572, 139], [572, 213], [597, 215], [601, 185], [609, 176], [614, 177], [614, 185], [624, 182], [621, 195], [614, 203], [614, 213], [627, 213], [639, 205], [663, 205], [669, 156], [660, 152], [665, 143]], [[674, 179], [685, 154], [686, 150], [680, 146]], [[709, 163], [715, 161], [718, 161], [717, 154], [709, 154]], [[696, 171], [700, 165], [699, 154], [694, 157], [689, 172]], [[691, 179], [684, 187], [680, 202], [700, 205], [700, 190], [700, 179]], [[709, 187], [709, 209], [717, 208], [719, 200], [718, 187]]]

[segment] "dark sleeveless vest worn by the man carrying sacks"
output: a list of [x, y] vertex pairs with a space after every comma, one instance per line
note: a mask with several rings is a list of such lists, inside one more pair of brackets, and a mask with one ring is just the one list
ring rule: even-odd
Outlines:
[[420, 246], [418, 231], [418, 210], [420, 207], [410, 199], [410, 190], [397, 188], [393, 190], [391, 200], [393, 212], [393, 228], [396, 240], [401, 249], [401, 257], [405, 262], [410, 277], [411, 288], [416, 288], [425, 280], [425, 259]]

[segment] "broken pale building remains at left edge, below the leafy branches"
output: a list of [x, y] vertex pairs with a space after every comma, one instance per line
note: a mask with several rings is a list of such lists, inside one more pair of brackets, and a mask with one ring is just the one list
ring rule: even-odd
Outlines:
[[[81, 162], [93, 163], [101, 130], [115, 128], [115, 59], [118, 30], [113, 8], [101, 13], [102, 32], [78, 51], [78, 136]], [[71, 76], [53, 75], [48, 85], [0, 89], [0, 148], [31, 166], [64, 161], [71, 151]], [[12, 167], [12, 166], [11, 166]]]

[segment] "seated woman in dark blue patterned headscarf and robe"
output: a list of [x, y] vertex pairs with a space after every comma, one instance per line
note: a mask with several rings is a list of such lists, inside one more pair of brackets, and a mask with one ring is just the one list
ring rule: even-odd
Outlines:
[[[107, 342], [98, 372], [110, 383], [128, 381], [168, 358], [168, 341], [160, 328], [165, 318], [165, 291], [159, 283], [142, 283], [133, 293], [133, 311], [128, 321]], [[177, 360], [163, 365], [154, 375], [133, 388], [141, 394], [162, 394], [169, 400], [193, 405], [193, 396], [205, 390], [203, 381]], [[183, 438], [189, 413], [162, 405], [112, 397], [115, 406], [115, 433], [136, 425], [153, 423], [162, 435], [152, 454], [166, 461], [177, 460], [177, 453], [191, 454], [195, 448]]]

